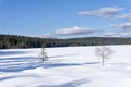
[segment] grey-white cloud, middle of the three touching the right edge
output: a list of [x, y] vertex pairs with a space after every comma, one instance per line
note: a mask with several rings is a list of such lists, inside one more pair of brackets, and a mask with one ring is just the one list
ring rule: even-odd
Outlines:
[[118, 28], [118, 29], [131, 29], [131, 23], [123, 23], [123, 24], [110, 24], [109, 25], [112, 28]]

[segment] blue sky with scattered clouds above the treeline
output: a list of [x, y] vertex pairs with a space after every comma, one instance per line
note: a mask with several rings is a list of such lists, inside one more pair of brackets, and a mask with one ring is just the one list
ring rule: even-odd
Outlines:
[[130, 37], [130, 0], [0, 0], [0, 33]]

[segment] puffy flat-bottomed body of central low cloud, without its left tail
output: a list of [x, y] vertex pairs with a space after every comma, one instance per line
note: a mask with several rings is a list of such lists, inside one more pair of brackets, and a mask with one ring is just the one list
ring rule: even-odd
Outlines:
[[93, 30], [91, 28], [83, 28], [74, 26], [72, 28], [63, 28], [63, 29], [57, 29], [53, 32], [53, 35], [83, 35], [83, 34], [92, 34], [96, 30]]

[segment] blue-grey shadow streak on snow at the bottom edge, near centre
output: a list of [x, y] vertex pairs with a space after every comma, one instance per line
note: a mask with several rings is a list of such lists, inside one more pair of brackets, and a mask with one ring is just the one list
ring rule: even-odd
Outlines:
[[37, 87], [78, 87], [79, 85], [82, 85], [85, 83], [88, 83], [88, 80], [87, 79], [79, 79], [79, 80], [69, 82], [69, 83], [58, 85], [58, 86], [44, 86], [44, 85], [41, 85], [41, 86], [37, 86]]

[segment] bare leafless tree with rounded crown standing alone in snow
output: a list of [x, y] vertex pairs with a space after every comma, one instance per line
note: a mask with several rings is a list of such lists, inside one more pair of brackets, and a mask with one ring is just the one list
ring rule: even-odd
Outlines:
[[97, 47], [95, 49], [95, 51], [96, 51], [96, 55], [102, 58], [102, 65], [103, 66], [105, 63], [105, 59], [110, 58], [110, 55], [114, 52], [109, 47], [106, 47], [106, 46]]

